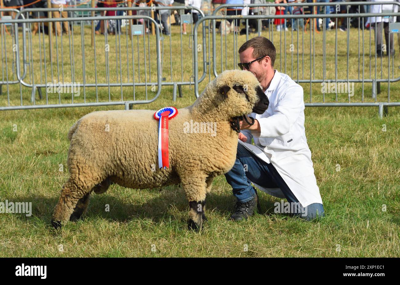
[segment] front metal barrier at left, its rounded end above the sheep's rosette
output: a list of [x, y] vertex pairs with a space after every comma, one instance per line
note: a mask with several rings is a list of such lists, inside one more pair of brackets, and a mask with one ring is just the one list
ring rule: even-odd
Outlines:
[[[147, 16], [108, 16], [102, 17], [102, 20], [138, 20], [140, 18], [156, 24], [154, 19]], [[85, 17], [85, 20], [94, 21], [96, 17]], [[42, 27], [46, 22], [59, 21], [58, 18], [40, 19]], [[83, 22], [82, 18], [64, 18], [63, 21], [68, 23], [72, 21]], [[0, 23], [2, 22], [0, 21]], [[30, 27], [30, 24], [38, 22], [38, 19], [10, 20], [8, 22], [13, 23], [15, 27], [18, 26], [19, 22], [25, 22]], [[19, 96], [16, 96], [16, 92], [13, 93], [13, 96], [8, 94], [8, 104], [0, 107], [0, 110], [101, 105], [125, 105], [128, 108], [130, 104], [150, 103], [158, 98], [161, 92], [160, 34], [158, 29], [156, 29], [156, 36], [152, 38], [154, 40], [152, 48], [148, 50], [146, 50], [146, 45], [150, 46], [150, 42], [146, 41], [145, 36], [140, 39], [136, 36], [136, 43], [134, 44], [134, 35], [126, 36], [126, 42], [123, 42], [121, 33], [117, 33], [115, 45], [112, 41], [108, 41], [108, 34], [106, 33], [104, 42], [96, 42], [96, 37], [94, 37], [94, 45], [91, 49], [88, 49], [86, 48], [85, 39], [87, 40], [87, 37], [85, 35], [90, 35], [90, 31], [88, 29], [85, 30], [83, 24], [79, 28], [72, 25], [71, 30], [69, 30], [69, 24], [67, 27], [68, 36], [64, 36], [67, 39], [63, 40], [62, 34], [57, 36], [56, 33], [54, 43], [52, 42], [52, 37], [49, 37], [49, 43], [46, 44], [44, 34], [40, 31], [39, 41], [36, 41], [36, 44], [32, 44], [32, 37], [29, 36], [27, 44], [30, 53], [29, 81], [25, 81], [19, 76], [20, 52], [17, 48], [16, 74], [18, 80], [20, 80], [20, 86], [32, 88], [30, 97], [33, 102], [32, 104], [24, 104], [29, 98], [28, 92], [26, 92], [28, 90], [26, 88], [23, 90], [20, 87]], [[74, 40], [74, 31], [80, 34], [79, 40]], [[127, 35], [127, 30], [125, 34]], [[142, 35], [144, 35], [143, 30]], [[19, 42], [17, 28], [16, 42], [17, 44]], [[66, 50], [64, 50], [64, 44], [67, 46]], [[123, 45], [128, 48], [126, 51], [121, 52]], [[136, 50], [134, 52], [136, 46], [138, 48], [138, 57], [135, 55]], [[139, 46], [143, 47], [142, 52], [139, 51]], [[37, 50], [35, 49], [36, 47], [38, 48]], [[65, 54], [69, 60], [64, 60]], [[114, 59], [114, 55], [116, 56], [115, 69], [110, 64], [110, 61]], [[104, 57], [104, 60], [102, 60], [102, 57]], [[148, 61], [149, 58], [152, 60]], [[122, 60], [126, 62], [126, 68], [122, 65]], [[140, 69], [136, 68], [136, 64]], [[147, 64], [156, 66], [156, 71], [153, 74]], [[94, 68], [88, 68], [88, 66], [93, 66]], [[150, 84], [150, 80], [147, 79], [151, 75], [154, 76], [155, 83]], [[107, 83], [100, 83], [101, 81]], [[140, 86], [144, 88], [141, 92], [137, 90]], [[96, 88], [96, 92], [86, 94], [86, 88], [89, 87]], [[128, 90], [125, 87], [130, 87], [129, 96], [124, 96], [123, 94], [123, 88]], [[44, 104], [38, 104], [39, 102], [35, 100], [35, 90], [40, 90], [40, 88], [46, 88], [46, 102], [43, 102]], [[81, 88], [83, 88], [83, 96], [80, 94]], [[99, 89], [107, 89], [108, 94], [99, 92]], [[116, 99], [114, 91], [118, 89], [120, 90], [120, 96], [118, 95], [118, 99]], [[149, 98], [148, 92], [152, 92], [154, 96]], [[58, 93], [58, 96], [54, 96], [54, 93]], [[15, 102], [20, 104], [16, 105]]]

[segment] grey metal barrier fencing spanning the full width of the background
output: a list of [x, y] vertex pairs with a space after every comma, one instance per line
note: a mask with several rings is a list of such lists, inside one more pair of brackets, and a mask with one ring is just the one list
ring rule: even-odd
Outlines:
[[[303, 87], [309, 84], [310, 99], [306, 106], [378, 106], [382, 115], [387, 112], [388, 106], [400, 105], [397, 94], [394, 101], [390, 98], [390, 85], [400, 80], [400, 71], [395, 68], [400, 62], [391, 54], [388, 58], [377, 56], [376, 34], [370, 29], [365, 30], [364, 20], [366, 17], [393, 17], [399, 13], [259, 14], [260, 7], [322, 6], [326, 12], [328, 6], [335, 4], [358, 7], [377, 5], [376, 2], [248, 4], [246, 8], [254, 8], [256, 15], [215, 15], [221, 9], [240, 6], [232, 4], [221, 5], [213, 16], [206, 17], [201, 10], [191, 6], [76, 7], [65, 8], [64, 11], [74, 11], [79, 16], [62, 19], [30, 18], [31, 12], [45, 10], [50, 16], [51, 12], [58, 11], [57, 8], [23, 9], [17, 12], [17, 19], [0, 20], [3, 31], [2, 48], [8, 48], [7, 56], [2, 57], [4, 79], [0, 82], [0, 86], [7, 84], [7, 96], [0, 96], [0, 110], [116, 104], [129, 108], [130, 104], [145, 104], [156, 100], [162, 88], [172, 87], [175, 100], [178, 90], [181, 94], [182, 85], [188, 85], [190, 89], [194, 86], [197, 97], [199, 84], [206, 83], [206, 77], [210, 81], [223, 70], [238, 68], [238, 47], [255, 32], [254, 36], [266, 36], [276, 46], [274, 66], [278, 71], [289, 74]], [[396, 2], [380, 4], [394, 4], [396, 8], [400, 6]], [[347, 12], [349, 7], [347, 6]], [[189, 24], [190, 32], [186, 36], [182, 35], [181, 26], [179, 41], [173, 41], [165, 35], [161, 24], [149, 16], [150, 12], [154, 12], [161, 19], [160, 10], [182, 12], [184, 9], [197, 10], [202, 17], [194, 25], [190, 15], [181, 15], [181, 24]], [[141, 10], [142, 14], [87, 16], [88, 13], [93, 15], [95, 12], [107, 10], [127, 11], [127, 14], [133, 10]], [[316, 31], [316, 18], [322, 19], [320, 33]], [[324, 23], [328, 18], [334, 20], [334, 32], [325, 29]], [[338, 32], [339, 18], [345, 18], [349, 27], [344, 33]], [[356, 29], [352, 28], [350, 31], [351, 18], [355, 19], [352, 22], [356, 24]], [[142, 22], [140, 19], [143, 19]], [[298, 27], [300, 22], [309, 21], [309, 24], [297, 31], [281, 29], [276, 32], [273, 22], [275, 19], [284, 19], [285, 23], [286, 19], [294, 19]], [[94, 27], [99, 20], [105, 26], [105, 34], [100, 36], [100, 40], [94, 34]], [[244, 20], [245, 28], [241, 33], [234, 31], [230, 35], [217, 33], [216, 22], [223, 20]], [[119, 21], [123, 21], [126, 27], [118, 28]], [[68, 34], [45, 35], [45, 25], [52, 26], [54, 22], [67, 22]], [[115, 35], [108, 35], [108, 22], [111, 26], [116, 24], [113, 29]], [[40, 26], [36, 37], [31, 32], [34, 23]], [[250, 28], [254, 23], [253, 29]], [[18, 28], [18, 24], [22, 28]], [[266, 24], [265, 28], [263, 24]], [[396, 24], [390, 23], [391, 31], [396, 30]], [[8, 37], [4, 33], [6, 25], [12, 27], [12, 33]], [[146, 28], [151, 25], [156, 27], [155, 36], [146, 33]], [[169, 25], [171, 26], [171, 18]], [[200, 26], [201, 30], [198, 29]], [[332, 36], [328, 36], [329, 33]], [[330, 48], [333, 46], [334, 48]], [[390, 50], [391, 47], [387, 48]], [[347, 86], [345, 94], [338, 92], [338, 88], [334, 92], [326, 92], [321, 86], [327, 83], [335, 84], [336, 87], [338, 84], [344, 88]], [[9, 84], [19, 84], [19, 90], [17, 86]], [[353, 85], [353, 94], [350, 94], [350, 84], [357, 84], [356, 89]], [[385, 94], [380, 94], [380, 84], [387, 84], [387, 98]], [[79, 88], [79, 96], [76, 96], [73, 88]], [[40, 100], [36, 98], [36, 90]], [[306, 88], [304, 90], [307, 91]], [[368, 96], [364, 96], [365, 94]]]

